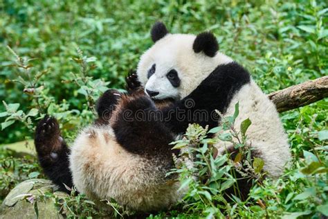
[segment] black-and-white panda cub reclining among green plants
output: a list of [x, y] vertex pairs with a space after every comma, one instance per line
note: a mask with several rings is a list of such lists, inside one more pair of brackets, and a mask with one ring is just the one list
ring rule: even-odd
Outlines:
[[[63, 190], [64, 184], [75, 186], [91, 199], [114, 198], [136, 211], [169, 207], [183, 195], [174, 176], [165, 177], [174, 168], [172, 154], [179, 154], [169, 143], [189, 123], [209, 128], [220, 123], [217, 117], [179, 114], [202, 110], [210, 115], [217, 109], [230, 116], [239, 102], [236, 127], [252, 121], [247, 136], [253, 152], [264, 160], [269, 176], [279, 177], [291, 158], [289, 144], [275, 105], [248, 71], [218, 51], [212, 33], [171, 34], [159, 22], [151, 33], [154, 45], [127, 78], [129, 94], [105, 92], [98, 101], [100, 119], [84, 128], [71, 148], [55, 119], [47, 116], [37, 125], [35, 146], [46, 175]], [[140, 110], [147, 119], [136, 119]], [[231, 149], [224, 143], [216, 147]]]

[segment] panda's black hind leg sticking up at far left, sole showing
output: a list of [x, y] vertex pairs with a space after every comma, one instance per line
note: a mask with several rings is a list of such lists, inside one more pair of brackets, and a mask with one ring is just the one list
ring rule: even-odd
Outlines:
[[64, 184], [69, 188], [73, 187], [69, 169], [71, 151], [60, 136], [60, 128], [55, 118], [45, 116], [39, 121], [35, 130], [35, 148], [46, 176], [60, 186], [62, 191], [67, 192]]

